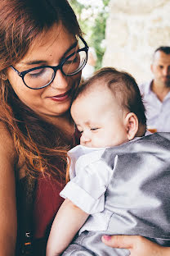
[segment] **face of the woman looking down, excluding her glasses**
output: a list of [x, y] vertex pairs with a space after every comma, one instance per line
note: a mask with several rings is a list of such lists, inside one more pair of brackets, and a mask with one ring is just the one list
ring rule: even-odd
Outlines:
[[[53, 25], [43, 37], [39, 35], [34, 40], [28, 53], [14, 67], [22, 72], [36, 66], [57, 66], [75, 42], [73, 34]], [[73, 49], [67, 55], [70, 53], [73, 53]], [[51, 85], [43, 89], [29, 89], [11, 67], [7, 70], [7, 78], [20, 100], [45, 119], [60, 117], [67, 112], [72, 96], [70, 89], [78, 86], [80, 77], [81, 72], [65, 76], [58, 70]]]

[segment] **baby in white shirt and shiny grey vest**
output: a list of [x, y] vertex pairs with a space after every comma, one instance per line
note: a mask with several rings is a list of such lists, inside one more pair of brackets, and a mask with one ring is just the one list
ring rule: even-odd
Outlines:
[[170, 135], [145, 132], [136, 81], [101, 69], [78, 89], [71, 115], [82, 135], [68, 153], [70, 181], [60, 192], [65, 202], [52, 224], [47, 256], [68, 246], [63, 255], [130, 254], [104, 245], [102, 235], [143, 235], [170, 246]]

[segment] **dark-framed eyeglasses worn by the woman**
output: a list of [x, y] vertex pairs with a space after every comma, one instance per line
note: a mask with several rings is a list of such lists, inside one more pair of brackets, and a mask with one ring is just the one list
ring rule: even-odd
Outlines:
[[[55, 79], [56, 71], [60, 70], [63, 75], [76, 75], [83, 70], [87, 63], [88, 46], [86, 41], [78, 36], [84, 43], [83, 48], [78, 48], [73, 53], [69, 54], [65, 59], [61, 60], [58, 66], [36, 66], [27, 71], [17, 71], [15, 67], [11, 68], [22, 78], [24, 84], [30, 89], [42, 89]], [[78, 43], [76, 43], [78, 45]], [[74, 47], [75, 48], [75, 47]], [[73, 51], [73, 49], [72, 49]]]

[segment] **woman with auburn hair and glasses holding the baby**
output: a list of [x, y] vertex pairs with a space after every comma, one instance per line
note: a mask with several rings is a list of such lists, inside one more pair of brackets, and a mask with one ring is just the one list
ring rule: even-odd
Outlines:
[[69, 107], [86, 62], [87, 44], [66, 0], [1, 1], [2, 256], [45, 254], [66, 152], [78, 143]]

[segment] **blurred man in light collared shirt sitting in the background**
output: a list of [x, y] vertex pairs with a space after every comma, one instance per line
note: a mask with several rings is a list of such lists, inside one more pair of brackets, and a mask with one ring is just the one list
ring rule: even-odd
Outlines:
[[150, 66], [153, 80], [140, 87], [150, 131], [170, 131], [170, 47], [154, 51]]

